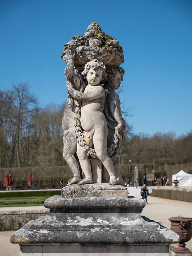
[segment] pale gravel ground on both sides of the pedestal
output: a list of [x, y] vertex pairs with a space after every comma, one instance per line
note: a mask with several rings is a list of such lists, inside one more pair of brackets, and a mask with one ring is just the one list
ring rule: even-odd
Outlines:
[[[136, 189], [135, 187], [129, 187], [128, 191], [129, 191], [129, 195], [133, 195], [135, 197], [140, 198], [140, 188]], [[12, 210], [16, 210], [15, 208], [19, 208], [20, 210], [21, 208], [25, 208], [25, 210], [26, 209], [29, 210], [29, 207], [6, 207], [6, 208], [9, 208], [8, 210], [10, 210], [10, 208]], [[34, 208], [39, 209], [38, 207], [34, 207]], [[41, 207], [41, 208], [45, 209], [44, 207]], [[0, 209], [3, 210], [3, 208], [0, 208]], [[143, 209], [143, 212], [141, 213], [141, 215], [144, 215], [147, 218], [157, 221], [163, 226], [170, 228], [171, 222], [168, 220], [168, 218], [176, 217], [177, 215], [192, 217], [192, 203], [149, 196], [148, 204]], [[1, 256], [19, 256], [19, 245], [11, 244], [9, 242], [9, 238], [14, 232], [15, 231], [0, 232], [0, 255]], [[186, 243], [186, 247], [189, 250], [192, 250], [192, 240]]]

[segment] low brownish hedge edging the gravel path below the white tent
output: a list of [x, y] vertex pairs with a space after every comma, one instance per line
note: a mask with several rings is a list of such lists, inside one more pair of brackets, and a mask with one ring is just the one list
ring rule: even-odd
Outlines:
[[190, 188], [151, 187], [151, 189], [150, 196], [192, 203], [192, 189]]

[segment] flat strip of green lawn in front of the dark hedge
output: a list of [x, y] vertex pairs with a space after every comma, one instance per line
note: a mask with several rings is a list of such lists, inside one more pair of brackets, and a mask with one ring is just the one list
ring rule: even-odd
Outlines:
[[0, 207], [39, 206], [44, 204], [46, 198], [44, 196], [0, 198]]

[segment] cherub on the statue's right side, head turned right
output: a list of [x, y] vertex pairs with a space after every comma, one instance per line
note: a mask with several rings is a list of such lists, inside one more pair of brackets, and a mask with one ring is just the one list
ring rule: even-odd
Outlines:
[[[119, 89], [125, 71], [121, 67], [108, 67], [106, 70], [108, 80], [104, 84], [104, 89], [108, 90], [106, 97], [106, 107], [104, 110], [105, 118], [108, 123], [108, 147], [113, 142], [114, 134], [119, 134], [119, 148], [116, 151], [116, 159], [114, 161], [115, 175], [117, 178], [116, 184], [125, 186], [120, 175], [120, 154], [121, 142], [124, 137], [126, 128], [125, 120], [122, 118], [120, 100], [115, 90]], [[113, 157], [112, 157], [113, 159]]]

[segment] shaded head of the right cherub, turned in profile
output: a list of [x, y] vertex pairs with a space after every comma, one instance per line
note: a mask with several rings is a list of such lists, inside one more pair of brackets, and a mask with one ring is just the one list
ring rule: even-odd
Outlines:
[[117, 90], [120, 87], [121, 81], [123, 80], [123, 75], [125, 70], [122, 67], [108, 67], [107, 73], [107, 83], [111, 86], [113, 90]]

